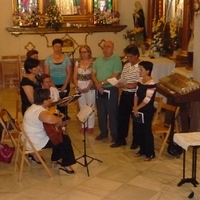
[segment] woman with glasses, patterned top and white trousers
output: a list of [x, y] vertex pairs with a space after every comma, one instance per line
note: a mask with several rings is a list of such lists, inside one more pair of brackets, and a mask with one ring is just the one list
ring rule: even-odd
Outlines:
[[[81, 93], [81, 97], [78, 99], [79, 107], [81, 109], [87, 104], [88, 106], [92, 106], [94, 108], [95, 90], [91, 80], [92, 64], [94, 61], [92, 58], [92, 51], [88, 45], [82, 45], [79, 48], [79, 53], [80, 60], [75, 63], [73, 76], [76, 91]], [[88, 133], [93, 133], [94, 112], [89, 116], [85, 124], [85, 128]], [[83, 124], [80, 132], [84, 132]]]

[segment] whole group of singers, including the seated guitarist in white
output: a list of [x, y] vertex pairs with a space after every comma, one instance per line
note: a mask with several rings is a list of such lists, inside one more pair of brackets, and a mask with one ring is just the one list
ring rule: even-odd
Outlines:
[[[52, 147], [52, 162], [60, 164], [60, 169], [66, 173], [73, 174], [71, 165], [76, 163], [76, 160], [69, 136], [63, 135], [63, 142], [55, 146], [43, 126], [43, 123], [63, 126], [66, 120], [70, 119], [66, 107], [57, 107], [62, 113], [60, 116], [52, 115], [46, 109], [52, 101], [58, 101], [69, 94], [72, 66], [69, 57], [62, 53], [62, 46], [61, 39], [52, 41], [53, 53], [45, 59], [43, 70], [38, 60], [38, 52], [32, 50], [27, 53], [20, 94], [23, 127], [34, 146], [37, 150]], [[140, 61], [140, 54], [135, 45], [128, 45], [124, 49], [128, 62], [123, 68], [120, 57], [114, 55], [112, 41], [105, 41], [102, 50], [103, 55], [94, 60], [88, 45], [79, 48], [80, 59], [75, 62], [73, 83], [76, 92], [81, 93], [78, 100], [80, 109], [85, 104], [93, 108], [96, 105], [100, 134], [95, 139], [103, 140], [110, 132], [112, 148], [126, 145], [130, 116], [134, 119], [138, 112], [142, 112], [144, 122], [133, 122], [131, 148], [139, 146], [140, 150], [135, 156], [144, 155], [145, 160], [150, 161], [155, 157], [151, 131], [156, 92], [156, 85], [151, 77], [153, 64]], [[123, 81], [112, 85], [109, 82], [110, 78]], [[119, 88], [122, 89], [122, 93], [118, 102]], [[93, 113], [87, 120], [85, 131], [93, 133], [94, 121]], [[84, 127], [81, 127], [80, 132], [83, 131]], [[31, 158], [39, 163], [34, 154]]]

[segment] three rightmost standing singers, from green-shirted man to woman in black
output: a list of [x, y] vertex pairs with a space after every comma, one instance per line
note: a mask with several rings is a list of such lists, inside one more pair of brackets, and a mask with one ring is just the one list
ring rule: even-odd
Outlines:
[[[126, 145], [130, 116], [133, 118], [133, 141], [131, 149], [140, 150], [136, 157], [145, 156], [145, 161], [155, 157], [151, 123], [155, 112], [154, 99], [156, 84], [151, 77], [153, 64], [140, 61], [138, 47], [131, 44], [124, 49], [128, 62], [122, 68], [121, 59], [113, 54], [114, 44], [106, 41], [103, 56], [99, 56], [93, 66], [92, 80], [97, 90], [96, 106], [100, 135], [96, 140], [108, 137], [107, 121], [113, 144], [111, 148]], [[119, 79], [110, 84], [109, 79]], [[118, 103], [119, 88], [122, 89]], [[137, 120], [139, 112], [144, 121]]]

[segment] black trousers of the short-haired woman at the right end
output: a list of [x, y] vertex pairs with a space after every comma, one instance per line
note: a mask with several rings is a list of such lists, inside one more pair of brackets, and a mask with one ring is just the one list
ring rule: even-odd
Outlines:
[[155, 156], [154, 152], [154, 137], [151, 130], [151, 123], [154, 113], [144, 113], [144, 123], [134, 122], [134, 131], [139, 138], [139, 154], [146, 157]]

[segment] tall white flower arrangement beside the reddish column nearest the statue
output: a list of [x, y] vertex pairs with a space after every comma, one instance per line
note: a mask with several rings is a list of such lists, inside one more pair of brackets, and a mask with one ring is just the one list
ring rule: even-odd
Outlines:
[[153, 38], [149, 49], [150, 51], [160, 53], [161, 55], [164, 53], [163, 43], [162, 43], [164, 29], [165, 29], [164, 18], [162, 17], [158, 20], [154, 18], [152, 24]]

